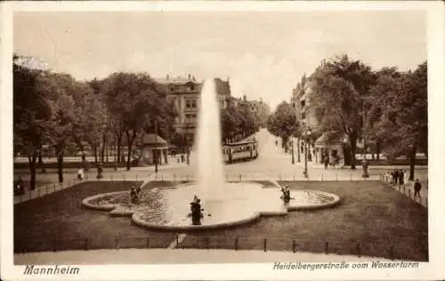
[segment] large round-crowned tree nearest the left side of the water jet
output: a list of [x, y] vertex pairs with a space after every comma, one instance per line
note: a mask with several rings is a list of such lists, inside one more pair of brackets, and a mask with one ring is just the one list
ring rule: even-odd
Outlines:
[[134, 141], [142, 132], [154, 128], [155, 119], [159, 132], [169, 136], [174, 123], [173, 103], [166, 99], [166, 92], [162, 92], [144, 73], [114, 73], [103, 81], [101, 93], [109, 115], [113, 116], [113, 124], [126, 136], [126, 169], [130, 170]]

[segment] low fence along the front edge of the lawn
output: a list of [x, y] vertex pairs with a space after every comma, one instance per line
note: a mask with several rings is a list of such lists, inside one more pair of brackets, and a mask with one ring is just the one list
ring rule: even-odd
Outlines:
[[386, 259], [427, 261], [428, 254], [399, 243], [338, 242], [333, 240], [304, 240], [292, 237], [226, 237], [163, 233], [145, 237], [83, 237], [83, 238], [25, 238], [14, 241], [14, 253], [58, 252], [98, 249], [222, 249], [336, 253], [355, 256], [374, 256]]

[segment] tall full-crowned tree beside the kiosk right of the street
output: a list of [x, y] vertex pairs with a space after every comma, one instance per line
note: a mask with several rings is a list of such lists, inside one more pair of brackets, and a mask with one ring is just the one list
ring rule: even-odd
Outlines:
[[[310, 106], [320, 123], [320, 131], [328, 135], [345, 134], [351, 149], [351, 168], [355, 169], [357, 141], [362, 135], [364, 103], [375, 84], [371, 68], [347, 55], [323, 63], [311, 76]], [[366, 149], [366, 148], [364, 148]]]

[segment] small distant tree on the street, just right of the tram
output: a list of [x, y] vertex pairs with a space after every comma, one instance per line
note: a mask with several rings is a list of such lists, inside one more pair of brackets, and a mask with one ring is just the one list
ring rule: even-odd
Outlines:
[[[272, 113], [268, 120], [268, 130], [279, 136], [283, 144], [286, 144], [290, 136], [298, 136], [301, 132], [300, 124], [297, 122], [296, 112], [292, 105], [283, 101]], [[285, 147], [287, 150], [287, 147]]]

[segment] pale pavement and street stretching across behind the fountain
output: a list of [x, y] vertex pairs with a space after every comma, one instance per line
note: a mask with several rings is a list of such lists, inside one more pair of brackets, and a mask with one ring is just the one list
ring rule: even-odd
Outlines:
[[[260, 157], [254, 161], [224, 165], [226, 181], [380, 181], [380, 174], [388, 169], [392, 169], [391, 166], [373, 166], [369, 169], [370, 177], [363, 179], [361, 177], [362, 171], [360, 166], [358, 166], [358, 169], [355, 171], [338, 167], [325, 169], [321, 165], [313, 165], [312, 162], [309, 162], [309, 178], [304, 178], [303, 156], [301, 156], [300, 160], [302, 160], [302, 162], [300, 163], [297, 162], [297, 157], [295, 156], [295, 164], [292, 165], [291, 156], [285, 153], [284, 149], [281, 149], [280, 141], [278, 141], [278, 145], [275, 144], [277, 138], [271, 135], [270, 132], [262, 129], [255, 133], [255, 137], [258, 141]], [[194, 158], [194, 154], [192, 153], [190, 165], [178, 164], [177, 161], [174, 161], [174, 158], [171, 158], [170, 165], [159, 166], [158, 174], [154, 173], [154, 167], [152, 166], [134, 167], [130, 171], [122, 168], [117, 171], [104, 169], [104, 178], [101, 181], [146, 181], [149, 177], [151, 177], [152, 181], [193, 181], [196, 178]], [[43, 196], [54, 190], [66, 189], [76, 184], [78, 182], [76, 179], [77, 170], [65, 171], [69, 173], [65, 174], [65, 183], [63, 185], [51, 183], [57, 181], [57, 173], [37, 174], [38, 181], [50, 182], [50, 184], [42, 186], [32, 192], [27, 191], [25, 195], [21, 197], [14, 197], [14, 204]], [[25, 174], [22, 174], [22, 179], [27, 181], [28, 174], [26, 174], [26, 172], [24, 173]], [[92, 169], [91, 172], [85, 176], [86, 180], [96, 181], [95, 169]], [[428, 193], [427, 176], [427, 168], [416, 171], [416, 177], [422, 181], [422, 185], [424, 186], [421, 192], [421, 196], [424, 199]], [[407, 195], [408, 192], [409, 191], [406, 191]]]

